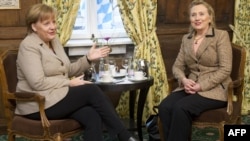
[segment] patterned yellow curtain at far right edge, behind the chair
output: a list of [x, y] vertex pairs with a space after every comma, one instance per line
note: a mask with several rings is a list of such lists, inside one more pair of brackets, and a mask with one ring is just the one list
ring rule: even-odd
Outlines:
[[242, 114], [250, 114], [250, 0], [235, 0], [233, 43], [246, 47]]

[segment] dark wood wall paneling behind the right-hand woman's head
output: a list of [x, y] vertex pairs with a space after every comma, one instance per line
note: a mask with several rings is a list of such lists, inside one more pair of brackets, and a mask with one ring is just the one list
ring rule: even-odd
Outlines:
[[[158, 24], [189, 23], [188, 5], [192, 0], [158, 0]], [[205, 0], [212, 5], [217, 23], [233, 21], [234, 0]]]

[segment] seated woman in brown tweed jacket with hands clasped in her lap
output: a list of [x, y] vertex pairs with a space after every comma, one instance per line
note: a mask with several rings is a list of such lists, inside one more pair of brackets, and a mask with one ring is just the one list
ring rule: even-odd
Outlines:
[[190, 33], [183, 36], [173, 65], [179, 87], [159, 106], [166, 141], [187, 141], [194, 117], [227, 104], [232, 69], [229, 35], [216, 29], [214, 10], [203, 0], [191, 2], [189, 19]]

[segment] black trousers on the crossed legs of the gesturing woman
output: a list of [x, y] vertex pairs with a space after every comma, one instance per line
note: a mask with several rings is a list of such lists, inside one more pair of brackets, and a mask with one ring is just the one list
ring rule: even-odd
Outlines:
[[[67, 96], [46, 109], [49, 119], [73, 118], [84, 127], [85, 141], [102, 141], [103, 124], [112, 135], [126, 130], [110, 99], [94, 84], [70, 87]], [[39, 113], [26, 115], [39, 119]]]

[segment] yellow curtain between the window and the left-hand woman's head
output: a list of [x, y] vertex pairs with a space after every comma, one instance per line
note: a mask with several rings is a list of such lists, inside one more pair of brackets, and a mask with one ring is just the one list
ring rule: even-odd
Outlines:
[[81, 0], [43, 0], [42, 3], [54, 7], [57, 12], [57, 34], [64, 46], [69, 40], [75, 24]]

